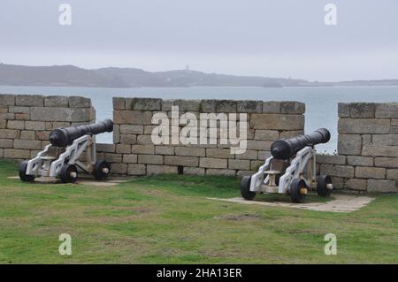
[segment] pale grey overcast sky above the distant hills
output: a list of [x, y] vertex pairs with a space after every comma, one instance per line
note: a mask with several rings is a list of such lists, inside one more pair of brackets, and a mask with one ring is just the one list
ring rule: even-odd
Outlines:
[[1, 0], [0, 12], [4, 64], [398, 79], [398, 0]]

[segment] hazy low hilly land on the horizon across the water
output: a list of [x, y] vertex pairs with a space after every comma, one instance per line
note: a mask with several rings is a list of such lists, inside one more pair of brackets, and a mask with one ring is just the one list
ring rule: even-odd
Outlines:
[[325, 87], [398, 86], [398, 80], [319, 82], [259, 76], [238, 76], [191, 70], [146, 72], [138, 68], [83, 69], [74, 65], [27, 66], [0, 64], [0, 85], [52, 87]]

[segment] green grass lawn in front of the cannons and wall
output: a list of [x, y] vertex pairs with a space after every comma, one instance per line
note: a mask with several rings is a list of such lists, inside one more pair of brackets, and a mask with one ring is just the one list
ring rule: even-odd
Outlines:
[[[0, 162], [0, 263], [398, 263], [398, 194], [332, 213], [206, 199], [240, 196], [231, 177], [90, 187], [7, 179], [16, 169]], [[72, 255], [59, 255], [61, 233]]]

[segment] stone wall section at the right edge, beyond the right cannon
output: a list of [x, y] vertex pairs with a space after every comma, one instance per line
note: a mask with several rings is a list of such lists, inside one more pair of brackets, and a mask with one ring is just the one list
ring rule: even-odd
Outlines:
[[398, 103], [339, 103], [339, 156], [319, 156], [337, 188], [398, 192]]

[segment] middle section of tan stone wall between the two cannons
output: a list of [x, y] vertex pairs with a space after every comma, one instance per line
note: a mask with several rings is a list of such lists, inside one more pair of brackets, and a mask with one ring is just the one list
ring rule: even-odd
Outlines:
[[[171, 118], [172, 106], [180, 115], [201, 113], [247, 113], [247, 150], [231, 154], [228, 144], [154, 145], [151, 123], [155, 113]], [[298, 102], [262, 102], [233, 100], [162, 100], [149, 98], [113, 98], [114, 144], [100, 145], [112, 171], [128, 175], [156, 173], [251, 174], [270, 156], [273, 141], [303, 132], [305, 105]], [[219, 135], [219, 133], [218, 133]], [[218, 136], [219, 137], [219, 136]]]

